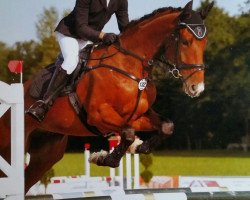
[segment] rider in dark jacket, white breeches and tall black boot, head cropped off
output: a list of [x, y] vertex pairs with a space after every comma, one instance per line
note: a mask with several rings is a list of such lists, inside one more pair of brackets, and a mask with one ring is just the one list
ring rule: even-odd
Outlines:
[[102, 41], [110, 45], [117, 40], [116, 34], [102, 32], [113, 14], [116, 15], [119, 30], [123, 31], [129, 22], [128, 1], [76, 0], [73, 11], [55, 29], [64, 61], [56, 68], [43, 99], [37, 101], [27, 113], [41, 122], [75, 70], [79, 51], [92, 42]]

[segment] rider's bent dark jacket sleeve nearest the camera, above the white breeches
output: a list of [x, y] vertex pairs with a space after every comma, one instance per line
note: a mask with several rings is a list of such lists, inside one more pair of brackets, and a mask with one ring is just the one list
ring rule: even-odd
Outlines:
[[76, 32], [81, 38], [96, 42], [101, 39], [101, 32], [96, 31], [88, 26], [89, 7], [90, 0], [76, 0]]

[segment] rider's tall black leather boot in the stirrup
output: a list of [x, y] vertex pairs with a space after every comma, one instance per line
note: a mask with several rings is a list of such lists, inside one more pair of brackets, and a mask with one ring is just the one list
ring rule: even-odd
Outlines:
[[57, 67], [43, 99], [33, 104], [26, 112], [39, 122], [43, 121], [49, 107], [54, 103], [55, 99], [67, 84], [68, 76], [64, 69]]

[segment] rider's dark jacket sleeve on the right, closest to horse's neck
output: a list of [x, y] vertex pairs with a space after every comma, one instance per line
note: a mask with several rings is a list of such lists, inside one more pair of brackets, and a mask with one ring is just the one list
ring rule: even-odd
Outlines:
[[115, 13], [116, 18], [117, 18], [117, 23], [119, 30], [122, 32], [129, 23], [129, 17], [128, 17], [128, 1], [127, 0], [122, 0], [121, 5], [119, 9]]

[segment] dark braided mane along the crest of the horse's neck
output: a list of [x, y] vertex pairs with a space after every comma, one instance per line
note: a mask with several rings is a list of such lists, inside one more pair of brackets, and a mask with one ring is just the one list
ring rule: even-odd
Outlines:
[[149, 19], [149, 18], [155, 16], [156, 14], [163, 13], [163, 12], [166, 12], [166, 11], [169, 11], [169, 13], [172, 13], [172, 12], [178, 12], [178, 11], [181, 11], [181, 10], [182, 10], [182, 8], [180, 8], [180, 7], [179, 8], [163, 7], [163, 8], [156, 9], [152, 13], [146, 14], [146, 15], [144, 15], [143, 17], [141, 17], [139, 19], [131, 20], [130, 23], [125, 27], [125, 29], [123, 31], [126, 31], [126, 30], [136, 26], [140, 22], [142, 22], [142, 21], [144, 21], [146, 19]]

